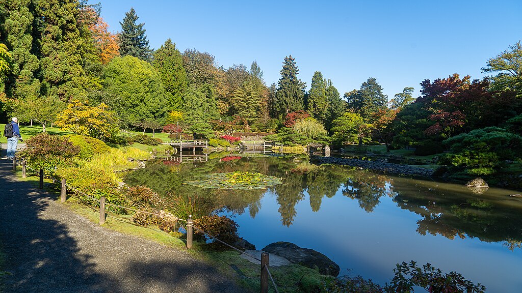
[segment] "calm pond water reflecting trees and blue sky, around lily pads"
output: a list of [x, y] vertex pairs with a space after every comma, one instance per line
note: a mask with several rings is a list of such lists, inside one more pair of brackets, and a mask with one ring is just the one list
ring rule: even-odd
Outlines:
[[[183, 182], [211, 173], [259, 172], [283, 178], [268, 189], [205, 189]], [[306, 155], [212, 153], [206, 162], [155, 160], [127, 175], [162, 196], [194, 196], [234, 218], [257, 249], [288, 241], [384, 284], [396, 263], [429, 262], [489, 292], [522, 288], [522, 199], [490, 188], [388, 176], [310, 163]]]

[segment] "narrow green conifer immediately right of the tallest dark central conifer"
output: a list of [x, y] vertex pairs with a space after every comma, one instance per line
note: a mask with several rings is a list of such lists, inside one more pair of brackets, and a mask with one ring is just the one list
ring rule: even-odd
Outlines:
[[308, 92], [307, 111], [312, 117], [324, 123], [328, 116], [328, 108], [326, 81], [321, 72], [315, 71], [310, 91]]

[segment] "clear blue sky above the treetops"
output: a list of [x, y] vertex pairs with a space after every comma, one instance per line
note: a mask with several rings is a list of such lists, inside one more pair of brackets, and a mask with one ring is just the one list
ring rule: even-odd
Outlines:
[[101, 1], [102, 17], [121, 30], [134, 7], [149, 44], [172, 39], [228, 68], [253, 60], [277, 82], [292, 55], [310, 87], [314, 71], [343, 93], [374, 77], [392, 98], [404, 87], [454, 73], [482, 78], [488, 58], [522, 39], [521, 0], [472, 1]]

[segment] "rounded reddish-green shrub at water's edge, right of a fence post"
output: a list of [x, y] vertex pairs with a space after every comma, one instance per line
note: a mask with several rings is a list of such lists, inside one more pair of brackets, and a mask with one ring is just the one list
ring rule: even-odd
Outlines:
[[[229, 244], [239, 239], [238, 224], [226, 216], [203, 216], [194, 220], [194, 226]], [[196, 233], [203, 235], [197, 230]]]

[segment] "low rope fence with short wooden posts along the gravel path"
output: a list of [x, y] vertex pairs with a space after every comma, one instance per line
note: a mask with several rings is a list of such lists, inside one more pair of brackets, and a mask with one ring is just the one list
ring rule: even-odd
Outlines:
[[[40, 189], [43, 189], [43, 178], [44, 178], [44, 170], [43, 169], [39, 169], [39, 170], [36, 170], [34, 168], [31, 168], [30, 166], [27, 166], [27, 162], [25, 160], [21, 161], [21, 163], [17, 162], [16, 158], [13, 159], [13, 170], [16, 170], [16, 166], [17, 165], [21, 165], [22, 166], [22, 177], [23, 178], [26, 178], [27, 176], [27, 170], [31, 170], [31, 173], [32, 174], [38, 174], [39, 175], [39, 181], [40, 181]], [[200, 228], [194, 226], [194, 222], [193, 222], [193, 219], [192, 219], [192, 215], [189, 215], [188, 219], [182, 219], [182, 218], [177, 218], [175, 216], [173, 216], [172, 214], [158, 214], [158, 213], [152, 213], [152, 212], [147, 212], [147, 211], [143, 211], [143, 210], [139, 210], [139, 209], [134, 209], [133, 207], [127, 207], [127, 206], [122, 206], [122, 205], [117, 205], [117, 204], [114, 204], [114, 203], [108, 203], [108, 202], [105, 202], [105, 197], [100, 197], [100, 199], [97, 199], [97, 198], [94, 198], [92, 196], [90, 196], [89, 194], [81, 191], [81, 190], [78, 190], [77, 188], [73, 187], [73, 186], [70, 186], [70, 185], [67, 185], [66, 183], [66, 179], [65, 178], [55, 178], [54, 176], [48, 176], [50, 179], [53, 180], [53, 183], [56, 183], [56, 182], [61, 182], [62, 184], [62, 190], [61, 190], [61, 202], [65, 202], [66, 201], [66, 194], [67, 194], [67, 189], [71, 190], [71, 191], [74, 191], [76, 192], [77, 194], [81, 194], [82, 196], [86, 197], [87, 199], [89, 200], [92, 200], [93, 202], [97, 202], [99, 203], [99, 210], [96, 209], [95, 207], [92, 207], [90, 206], [89, 204], [86, 204], [85, 203], [85, 200], [84, 199], [81, 199], [81, 198], [77, 198], [77, 197], [74, 197], [73, 194], [69, 194], [70, 197], [74, 198], [74, 199], [77, 199], [80, 203], [86, 205], [87, 207], [89, 207], [90, 209], [92, 209], [93, 211], [96, 211], [96, 212], [99, 212], [100, 213], [100, 221], [99, 221], [99, 224], [100, 225], [103, 225], [105, 223], [105, 217], [111, 217], [111, 218], [115, 218], [119, 221], [123, 221], [123, 222], [126, 222], [126, 223], [129, 223], [127, 221], [124, 221], [123, 219], [120, 219], [118, 217], [114, 217], [114, 216], [111, 216], [109, 214], [106, 214], [105, 213], [105, 206], [114, 206], [114, 207], [118, 207], [120, 209], [124, 209], [124, 210], [128, 210], [128, 211], [134, 211], [136, 213], [145, 213], [145, 214], [150, 214], [150, 215], [155, 215], [155, 216], [158, 216], [158, 217], [167, 217], [167, 218], [171, 218], [171, 219], [174, 219], [175, 221], [180, 221], [180, 222], [186, 222], [186, 227], [183, 226], [181, 223], [179, 223], [179, 226], [182, 227], [185, 231], [186, 231], [186, 247], [187, 249], [191, 249], [192, 246], [193, 246], [193, 229], [199, 231], [199, 233], [201, 234], [204, 234], [206, 236], [208, 236], [209, 238], [211, 239], [214, 239], [215, 241], [221, 243], [222, 245], [224, 246], [227, 246], [228, 248], [231, 248], [237, 252], [239, 252], [240, 254], [244, 254], [246, 255], [248, 258], [251, 258], [255, 261], [258, 261], [258, 262], [261, 262], [261, 290], [260, 292], [261, 293], [268, 293], [268, 279], [270, 279], [272, 285], [274, 286], [274, 289], [276, 291], [276, 293], [279, 293], [279, 289], [276, 285], [276, 282], [274, 281], [274, 278], [272, 277], [272, 274], [270, 273], [270, 270], [269, 270], [269, 254], [267, 252], [262, 252], [261, 253], [261, 259], [258, 259], [256, 257], [254, 257], [253, 255], [250, 255], [236, 247], [233, 247], [232, 245], [228, 244], [227, 242], [224, 242], [220, 239], [218, 239], [216, 236], [213, 236], [211, 234], [208, 234], [207, 232], [201, 230]]]

